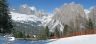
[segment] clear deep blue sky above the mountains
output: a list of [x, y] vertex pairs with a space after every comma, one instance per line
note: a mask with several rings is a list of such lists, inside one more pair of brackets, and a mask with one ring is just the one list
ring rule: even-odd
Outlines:
[[96, 0], [8, 0], [9, 7], [11, 8], [17, 9], [22, 4], [28, 4], [48, 12], [52, 12], [56, 7], [70, 2], [81, 4], [85, 9], [96, 5]]

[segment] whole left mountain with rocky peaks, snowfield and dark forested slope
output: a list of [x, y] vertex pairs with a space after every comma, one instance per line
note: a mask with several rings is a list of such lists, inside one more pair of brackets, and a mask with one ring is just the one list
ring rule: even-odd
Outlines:
[[20, 6], [18, 11], [15, 9], [10, 10], [10, 15], [12, 16], [14, 28], [17, 31], [32, 34], [43, 29], [53, 16], [36, 10], [35, 7], [29, 7], [26, 4]]

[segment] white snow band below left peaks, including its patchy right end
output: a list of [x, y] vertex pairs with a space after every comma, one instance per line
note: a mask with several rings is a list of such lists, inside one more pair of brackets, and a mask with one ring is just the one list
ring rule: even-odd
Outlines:
[[28, 14], [21, 14], [11, 12], [12, 20], [16, 22], [41, 22], [40, 25], [44, 26], [49, 21], [51, 21], [52, 15], [37, 17], [36, 15], [28, 15]]

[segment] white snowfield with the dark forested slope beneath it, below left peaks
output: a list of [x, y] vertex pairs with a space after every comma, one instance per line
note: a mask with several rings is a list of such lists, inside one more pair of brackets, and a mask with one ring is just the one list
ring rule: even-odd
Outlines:
[[14, 28], [16, 30], [36, 34], [38, 30], [42, 29], [43, 26], [46, 26], [45, 24], [49, 21], [51, 21], [51, 17], [48, 16], [42, 16], [38, 17], [35, 14], [24, 14], [24, 13], [18, 13], [18, 12], [10, 12], [12, 16], [12, 21]]

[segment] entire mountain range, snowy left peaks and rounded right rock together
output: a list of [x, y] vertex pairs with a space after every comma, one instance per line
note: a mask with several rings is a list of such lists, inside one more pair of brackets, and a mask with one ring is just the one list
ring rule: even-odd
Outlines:
[[48, 26], [50, 31], [54, 31], [56, 27], [62, 31], [64, 25], [69, 25], [74, 30], [77, 27], [78, 29], [84, 28], [85, 21], [89, 17], [92, 19], [89, 14], [92, 13], [90, 11], [84, 9], [80, 4], [69, 3], [56, 8], [53, 13], [48, 14], [34, 6], [29, 7], [24, 4], [20, 6], [18, 11], [15, 9], [10, 10], [10, 15], [17, 30], [35, 34], [45, 26]]

